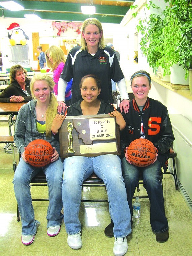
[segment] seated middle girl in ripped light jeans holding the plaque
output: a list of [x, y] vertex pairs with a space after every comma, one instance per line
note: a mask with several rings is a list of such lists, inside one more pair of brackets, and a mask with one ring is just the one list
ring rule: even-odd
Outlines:
[[[108, 114], [114, 111], [112, 104], [98, 99], [101, 82], [95, 75], [86, 75], [81, 79], [82, 99], [67, 108], [67, 116]], [[125, 128], [121, 113], [114, 111], [120, 130]], [[65, 116], [57, 114], [52, 123], [52, 133], [58, 136]], [[121, 123], [121, 124], [120, 124]], [[66, 139], [66, 138], [63, 138]], [[92, 173], [101, 178], [107, 188], [109, 211], [114, 222], [114, 255], [124, 255], [128, 245], [126, 236], [131, 233], [130, 210], [126, 189], [121, 173], [121, 160], [113, 154], [96, 157], [71, 156], [64, 160], [64, 179], [62, 199], [67, 243], [73, 249], [82, 247], [79, 208], [81, 203], [82, 183]]]

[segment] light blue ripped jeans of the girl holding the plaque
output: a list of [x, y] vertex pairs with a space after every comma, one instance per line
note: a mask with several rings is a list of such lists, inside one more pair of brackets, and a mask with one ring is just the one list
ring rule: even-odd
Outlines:
[[116, 155], [72, 156], [64, 160], [63, 166], [62, 198], [67, 233], [77, 234], [81, 231], [79, 209], [82, 183], [94, 172], [106, 185], [109, 212], [114, 222], [114, 236], [128, 235], [131, 232], [130, 211], [121, 173], [120, 158]]

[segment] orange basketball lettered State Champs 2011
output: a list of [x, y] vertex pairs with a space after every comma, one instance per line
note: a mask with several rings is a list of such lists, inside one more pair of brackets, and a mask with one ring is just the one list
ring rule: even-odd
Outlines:
[[51, 162], [53, 147], [44, 139], [31, 141], [25, 149], [27, 162], [35, 167], [44, 167]]

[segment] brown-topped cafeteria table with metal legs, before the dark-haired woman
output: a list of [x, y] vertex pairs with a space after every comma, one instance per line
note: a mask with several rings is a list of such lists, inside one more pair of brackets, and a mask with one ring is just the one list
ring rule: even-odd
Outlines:
[[[0, 102], [0, 115], [9, 115], [8, 119], [8, 126], [9, 126], [9, 136], [12, 136], [11, 126], [15, 126], [15, 121], [13, 120], [14, 115], [17, 118], [17, 114], [19, 112], [19, 109], [21, 106], [26, 104], [26, 102], [21, 103], [4, 103]], [[10, 149], [11, 146], [11, 149]], [[4, 147], [5, 153], [12, 153], [13, 154], [13, 170], [16, 170], [17, 163], [15, 160], [15, 154], [14, 154], [14, 145], [12, 143], [7, 143], [7, 145]]]

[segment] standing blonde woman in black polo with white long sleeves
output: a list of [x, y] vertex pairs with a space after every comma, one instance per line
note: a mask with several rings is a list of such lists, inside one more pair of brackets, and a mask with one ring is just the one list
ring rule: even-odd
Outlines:
[[[104, 45], [101, 23], [95, 18], [86, 19], [82, 25], [81, 45], [75, 46], [68, 54], [63, 72], [58, 81], [58, 112], [65, 110], [65, 90], [67, 82], [73, 78], [72, 99], [75, 103], [81, 99], [79, 84], [87, 74], [94, 74], [101, 80], [99, 98], [113, 103], [111, 79], [117, 82], [121, 94], [121, 110], [128, 112], [129, 99], [123, 72], [115, 52]], [[63, 111], [64, 111], [63, 110]]]

